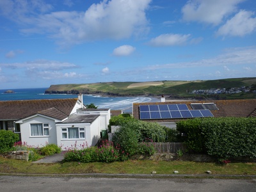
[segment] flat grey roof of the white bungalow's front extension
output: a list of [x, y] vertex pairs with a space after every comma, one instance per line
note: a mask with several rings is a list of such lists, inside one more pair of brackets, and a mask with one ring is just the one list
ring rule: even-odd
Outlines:
[[68, 116], [68, 119], [61, 122], [62, 124], [92, 124], [100, 115], [82, 115], [79, 113], [74, 113]]

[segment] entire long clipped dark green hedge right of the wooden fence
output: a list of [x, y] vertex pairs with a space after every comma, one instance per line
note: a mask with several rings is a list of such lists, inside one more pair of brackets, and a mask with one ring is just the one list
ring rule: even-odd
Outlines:
[[218, 158], [256, 157], [256, 118], [202, 118], [177, 123], [189, 150]]

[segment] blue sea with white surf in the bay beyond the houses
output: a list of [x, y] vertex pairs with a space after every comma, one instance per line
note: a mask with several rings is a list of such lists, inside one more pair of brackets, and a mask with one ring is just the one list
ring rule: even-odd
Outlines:
[[[14, 93], [4, 93], [0, 90], [0, 100], [33, 100], [33, 99], [70, 99], [77, 95], [70, 94], [45, 94], [47, 88], [20, 88], [12, 89]], [[122, 109], [124, 113], [131, 113], [134, 102], [159, 102], [154, 97], [106, 97], [101, 95], [83, 95], [83, 103], [94, 104], [99, 109], [110, 108], [112, 110]]]

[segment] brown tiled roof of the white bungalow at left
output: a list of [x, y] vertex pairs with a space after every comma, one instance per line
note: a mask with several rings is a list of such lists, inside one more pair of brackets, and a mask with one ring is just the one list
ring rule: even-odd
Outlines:
[[63, 119], [70, 115], [77, 99], [40, 99], [0, 101], [0, 120], [19, 120], [40, 113]]

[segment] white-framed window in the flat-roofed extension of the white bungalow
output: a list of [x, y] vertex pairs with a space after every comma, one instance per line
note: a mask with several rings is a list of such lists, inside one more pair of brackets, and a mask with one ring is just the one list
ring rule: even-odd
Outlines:
[[63, 139], [84, 139], [85, 132], [83, 127], [68, 127], [62, 128]]

